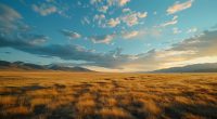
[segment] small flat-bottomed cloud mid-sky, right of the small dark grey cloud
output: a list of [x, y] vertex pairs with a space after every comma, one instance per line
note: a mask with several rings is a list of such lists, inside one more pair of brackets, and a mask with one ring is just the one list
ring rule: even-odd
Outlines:
[[113, 39], [115, 35], [105, 35], [105, 36], [94, 36], [90, 37], [93, 43], [106, 43], [108, 44]]

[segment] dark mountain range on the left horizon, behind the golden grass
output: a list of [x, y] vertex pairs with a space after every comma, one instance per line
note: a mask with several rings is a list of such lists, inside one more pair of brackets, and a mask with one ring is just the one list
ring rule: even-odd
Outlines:
[[0, 70], [62, 70], [62, 71], [93, 71], [84, 67], [66, 67], [61, 65], [36, 65], [24, 62], [0, 61]]

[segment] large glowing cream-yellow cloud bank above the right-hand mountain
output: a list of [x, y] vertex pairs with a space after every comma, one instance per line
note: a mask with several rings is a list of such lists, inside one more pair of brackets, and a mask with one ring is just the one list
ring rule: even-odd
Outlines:
[[[157, 68], [166, 68], [167, 64], [194, 61], [197, 58], [217, 56], [217, 30], [204, 31], [200, 36], [195, 36], [183, 40], [182, 42], [173, 44], [165, 50], [151, 50], [146, 53], [137, 55], [137, 58], [128, 63], [122, 64], [123, 67], [135, 68], [140, 70], [154, 70]], [[206, 63], [208, 61], [204, 61]], [[141, 65], [143, 64], [143, 65]]]

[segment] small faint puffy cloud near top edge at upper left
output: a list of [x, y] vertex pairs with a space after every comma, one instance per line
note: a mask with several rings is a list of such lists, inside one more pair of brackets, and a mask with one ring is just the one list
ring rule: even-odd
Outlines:
[[58, 12], [58, 8], [56, 6], [49, 5], [49, 4], [46, 4], [46, 3], [42, 3], [40, 5], [33, 4], [31, 8], [33, 8], [33, 10], [35, 12], [38, 12], [42, 16], [47, 16], [49, 14], [53, 14], [53, 13]]

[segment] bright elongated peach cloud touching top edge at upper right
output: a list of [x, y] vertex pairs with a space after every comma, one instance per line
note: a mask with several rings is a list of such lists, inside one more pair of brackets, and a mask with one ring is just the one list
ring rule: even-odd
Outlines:
[[167, 9], [167, 13], [168, 14], [175, 14], [175, 13], [180, 12], [182, 10], [189, 9], [189, 8], [192, 6], [193, 1], [194, 0], [188, 0], [187, 2], [183, 2], [183, 3], [176, 2], [174, 5], [171, 5]]

